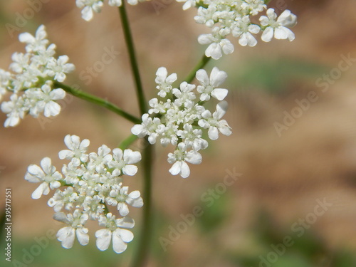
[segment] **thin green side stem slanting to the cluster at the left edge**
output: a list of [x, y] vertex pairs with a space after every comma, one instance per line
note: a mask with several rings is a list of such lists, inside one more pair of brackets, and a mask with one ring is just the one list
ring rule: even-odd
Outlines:
[[90, 103], [94, 103], [96, 105], [100, 105], [101, 107], [107, 108], [108, 110], [115, 112], [117, 115], [120, 115], [121, 117], [125, 117], [125, 119], [130, 120], [130, 122], [133, 122], [135, 124], [141, 123], [141, 120], [138, 117], [135, 117], [134, 115], [131, 115], [130, 113], [125, 112], [124, 110], [118, 108], [116, 105], [110, 103], [108, 100], [104, 100], [103, 98], [98, 98], [95, 95], [90, 95], [89, 93], [85, 93], [82, 90], [71, 88], [70, 86], [65, 85], [63, 83], [59, 83], [56, 80], [53, 81], [53, 85], [57, 88], [62, 88], [67, 93], [70, 93], [70, 95], [74, 95], [77, 98], [80, 98], [80, 99], [86, 100]]

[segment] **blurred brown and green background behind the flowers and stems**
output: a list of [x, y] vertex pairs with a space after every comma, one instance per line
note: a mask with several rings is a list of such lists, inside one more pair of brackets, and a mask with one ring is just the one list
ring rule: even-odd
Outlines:
[[[33, 2], [41, 7], [31, 7]], [[295, 41], [259, 41], [248, 48], [234, 40], [231, 56], [206, 67], [216, 65], [229, 75], [226, 120], [233, 135], [210, 142], [188, 179], [171, 176], [168, 150], [155, 148], [155, 231], [148, 266], [356, 266], [356, 1], [272, 0], [269, 6], [298, 16]], [[194, 23], [195, 9], [182, 11], [175, 1], [153, 0], [127, 9], [145, 93], [152, 98], [157, 68], [165, 66], [182, 80], [204, 53], [197, 36], [208, 29]], [[28, 19], [23, 22], [21, 16]], [[18, 34], [45, 24], [57, 55], [68, 55], [76, 66], [68, 85], [138, 115], [116, 9], [105, 5], [85, 22], [75, 1], [1, 1], [0, 23], [1, 68], [7, 69], [12, 53], [24, 50]], [[9, 24], [18, 28], [9, 31]], [[85, 79], [105, 49], [118, 52], [115, 60]], [[326, 75], [333, 78], [321, 83]], [[296, 112], [297, 102], [310, 92], [318, 100]], [[26, 168], [46, 156], [60, 167], [65, 135], [90, 139], [96, 151], [102, 144], [113, 148], [130, 134], [130, 122], [83, 100], [68, 97], [62, 106], [53, 120], [26, 117], [19, 126], [0, 130], [1, 206], [5, 188], [12, 189], [9, 266], [128, 266], [138, 239], [117, 255], [112, 248], [98, 251], [91, 231], [88, 246], [77, 242], [66, 250], [54, 237], [61, 224], [52, 219], [48, 197], [31, 199], [36, 185], [23, 179]], [[295, 121], [278, 134], [276, 122], [283, 125], [292, 112]], [[5, 119], [1, 113], [1, 123]], [[229, 172], [239, 178], [223, 187]], [[126, 183], [142, 188], [140, 175]], [[195, 206], [202, 214], [185, 227], [183, 218]], [[131, 212], [138, 235], [141, 213]], [[162, 246], [177, 230], [182, 231], [176, 232], [177, 240]], [[2, 251], [3, 246], [1, 236]], [[1, 266], [6, 266], [3, 262], [1, 252]]]

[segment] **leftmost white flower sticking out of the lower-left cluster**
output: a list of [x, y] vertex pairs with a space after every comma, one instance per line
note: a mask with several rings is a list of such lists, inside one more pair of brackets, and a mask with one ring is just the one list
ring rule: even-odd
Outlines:
[[39, 199], [42, 194], [48, 194], [50, 188], [56, 189], [61, 186], [59, 181], [62, 179], [62, 175], [56, 171], [51, 159], [45, 157], [41, 160], [41, 167], [35, 164], [28, 166], [25, 179], [32, 183], [41, 182], [40, 186], [32, 193], [33, 199]]

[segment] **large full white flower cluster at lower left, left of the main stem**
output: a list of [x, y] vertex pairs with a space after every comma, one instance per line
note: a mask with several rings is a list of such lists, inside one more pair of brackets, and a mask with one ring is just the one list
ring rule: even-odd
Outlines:
[[[143, 205], [140, 192], [128, 192], [122, 185], [122, 175], [132, 176], [137, 172], [134, 165], [141, 160], [140, 152], [115, 148], [110, 150], [106, 145], [98, 148], [98, 153], [87, 153], [89, 140], [80, 142], [76, 135], [67, 135], [64, 139], [68, 150], [59, 152], [60, 159], [68, 159], [63, 164], [62, 173], [52, 165], [51, 159], [41, 160], [41, 167], [31, 164], [25, 175], [28, 182], [39, 182], [32, 198], [39, 199], [56, 189], [48, 206], [56, 212], [53, 219], [66, 224], [60, 229], [57, 238], [64, 248], [73, 246], [75, 236], [83, 246], [88, 244], [86, 222], [98, 220], [103, 229], [96, 231], [96, 245], [103, 251], [110, 246], [116, 253], [125, 251], [127, 243], [132, 241], [133, 234], [127, 230], [134, 226], [134, 221], [127, 216], [128, 206]], [[112, 154], [110, 154], [112, 152]], [[108, 207], [115, 206], [122, 218], [115, 219]]]

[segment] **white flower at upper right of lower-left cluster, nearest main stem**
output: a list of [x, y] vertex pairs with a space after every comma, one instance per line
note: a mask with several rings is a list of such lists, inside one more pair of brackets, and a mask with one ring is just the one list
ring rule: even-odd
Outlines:
[[137, 173], [137, 166], [132, 165], [140, 162], [141, 153], [132, 150], [122, 150], [115, 148], [112, 150], [113, 160], [108, 162], [110, 168], [115, 168], [112, 174], [119, 176], [121, 172], [125, 175], [133, 176]]

